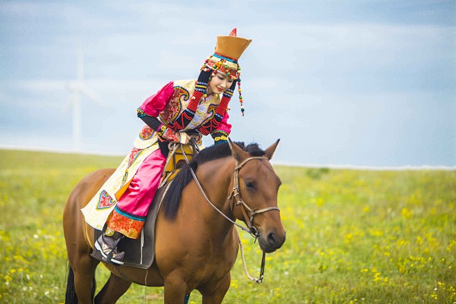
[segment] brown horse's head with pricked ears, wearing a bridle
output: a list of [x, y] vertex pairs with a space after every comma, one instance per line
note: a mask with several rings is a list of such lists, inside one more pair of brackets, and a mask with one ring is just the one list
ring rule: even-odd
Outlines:
[[278, 144], [279, 140], [265, 150], [265, 155], [257, 156], [229, 139], [231, 154], [236, 159], [231, 208], [234, 216], [258, 236], [260, 248], [266, 253], [279, 249], [286, 238], [277, 207], [281, 181], [270, 163]]

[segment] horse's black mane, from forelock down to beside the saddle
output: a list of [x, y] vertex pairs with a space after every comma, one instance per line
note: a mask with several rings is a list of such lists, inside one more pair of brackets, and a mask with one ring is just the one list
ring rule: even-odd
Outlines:
[[[252, 157], [261, 157], [265, 155], [265, 151], [258, 147], [257, 143], [250, 143], [245, 146], [243, 142], [236, 142], [236, 145], [241, 147], [245, 152], [248, 152]], [[216, 159], [222, 159], [231, 155], [231, 149], [229, 149], [228, 143], [220, 143], [218, 145], [211, 145], [206, 149], [201, 150], [196, 157], [188, 163], [188, 165], [182, 166], [177, 173], [173, 184], [171, 184], [168, 192], [164, 197], [164, 214], [169, 220], [174, 220], [177, 215], [177, 209], [179, 208], [179, 200], [182, 190], [185, 186], [193, 179], [190, 168], [196, 172], [198, 166], [208, 161], [214, 161]]]

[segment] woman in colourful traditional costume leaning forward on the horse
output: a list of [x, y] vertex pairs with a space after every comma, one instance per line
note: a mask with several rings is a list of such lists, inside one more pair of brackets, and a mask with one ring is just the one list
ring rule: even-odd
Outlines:
[[238, 59], [250, 42], [236, 37], [236, 28], [229, 36], [218, 36], [215, 53], [202, 65], [198, 80], [169, 82], [137, 110], [146, 125], [133, 150], [82, 208], [90, 226], [103, 230], [107, 225], [95, 242], [106, 262], [123, 265], [125, 253], [117, 252], [116, 245], [123, 236], [139, 237], [159, 186], [169, 142], [188, 143], [198, 137], [201, 145], [200, 134], [211, 134], [216, 144], [227, 142], [231, 131], [227, 109], [236, 83], [244, 114]]

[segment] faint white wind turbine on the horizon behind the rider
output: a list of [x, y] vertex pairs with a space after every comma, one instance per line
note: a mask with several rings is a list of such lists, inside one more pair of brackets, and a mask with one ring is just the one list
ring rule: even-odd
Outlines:
[[64, 112], [69, 111], [73, 107], [73, 150], [80, 152], [81, 150], [81, 96], [86, 96], [91, 101], [96, 102], [102, 107], [107, 107], [105, 102], [101, 100], [97, 93], [91, 90], [84, 82], [84, 55], [82, 48], [78, 48], [77, 52], [77, 78], [74, 81], [68, 82], [67, 89], [70, 92], [69, 102], [64, 108]]

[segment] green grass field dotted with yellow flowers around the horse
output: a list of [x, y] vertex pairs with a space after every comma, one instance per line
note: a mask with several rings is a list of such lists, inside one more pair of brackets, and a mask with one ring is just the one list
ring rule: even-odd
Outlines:
[[[84, 175], [120, 161], [0, 150], [0, 303], [63, 303], [64, 203]], [[224, 303], [456, 302], [456, 171], [276, 171], [286, 243], [261, 285], [238, 257]], [[257, 276], [258, 244], [243, 242]], [[98, 289], [107, 276], [98, 267]], [[162, 301], [163, 289], [134, 285], [119, 303]]]

